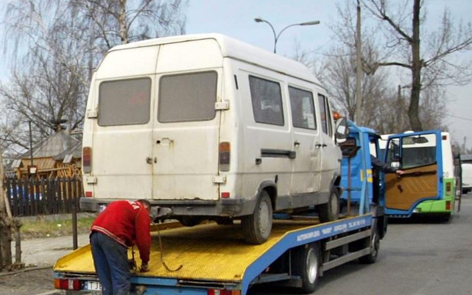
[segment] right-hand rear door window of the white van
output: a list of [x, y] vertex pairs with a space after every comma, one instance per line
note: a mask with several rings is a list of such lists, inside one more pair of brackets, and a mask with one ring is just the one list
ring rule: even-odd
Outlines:
[[161, 77], [157, 120], [169, 123], [215, 118], [217, 78], [214, 71]]

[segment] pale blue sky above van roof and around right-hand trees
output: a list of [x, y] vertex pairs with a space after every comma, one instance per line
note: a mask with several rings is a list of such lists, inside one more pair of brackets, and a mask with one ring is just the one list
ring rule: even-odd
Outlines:
[[[465, 22], [472, 21], [472, 0], [425, 0], [425, 4], [429, 27], [440, 24], [445, 5], [448, 5], [456, 20], [462, 18]], [[329, 49], [332, 41], [328, 24], [338, 16], [334, 0], [190, 0], [187, 33], [222, 33], [272, 51], [272, 30], [266, 23], [256, 23], [254, 17], [268, 20], [276, 33], [293, 23], [311, 20], [321, 22], [313, 26], [290, 27], [280, 35], [277, 54], [291, 57], [294, 56], [296, 43], [301, 49], [315, 53]], [[468, 58], [472, 58], [472, 52]], [[403, 77], [403, 81], [392, 81], [392, 85], [404, 84], [408, 79]], [[453, 140], [462, 146], [464, 137], [467, 137], [467, 147], [471, 148], [472, 83], [463, 87], [450, 87], [448, 96], [451, 102], [448, 104], [446, 122]]]

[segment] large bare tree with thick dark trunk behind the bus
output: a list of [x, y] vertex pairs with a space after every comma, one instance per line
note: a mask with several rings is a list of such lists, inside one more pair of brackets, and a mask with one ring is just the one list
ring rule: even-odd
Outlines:
[[[471, 49], [472, 28], [470, 23], [464, 26], [460, 22], [454, 26], [449, 10], [445, 9], [440, 28], [427, 34], [426, 29], [420, 30], [426, 19], [426, 15], [421, 14], [422, 0], [406, 0], [396, 10], [389, 6], [393, 2], [362, 0], [364, 7], [385, 24], [385, 45], [393, 53], [375, 63], [372, 70], [378, 66], [398, 66], [410, 71], [408, 118], [411, 128], [419, 131], [425, 127], [419, 109], [421, 91], [433, 85], [461, 84], [470, 80], [471, 63], [455, 63], [453, 54]], [[413, 7], [409, 10], [407, 7], [411, 2]]]

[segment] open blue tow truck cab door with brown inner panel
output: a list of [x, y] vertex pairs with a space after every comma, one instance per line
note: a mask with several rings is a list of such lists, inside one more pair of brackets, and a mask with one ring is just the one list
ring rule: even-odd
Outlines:
[[405, 172], [385, 175], [386, 214], [409, 217], [418, 203], [442, 196], [441, 131], [401, 133], [388, 137], [384, 160]]

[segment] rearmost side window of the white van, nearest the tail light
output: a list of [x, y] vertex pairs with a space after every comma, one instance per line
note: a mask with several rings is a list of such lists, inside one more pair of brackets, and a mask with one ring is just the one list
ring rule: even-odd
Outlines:
[[249, 76], [252, 112], [258, 123], [284, 125], [280, 84]]

